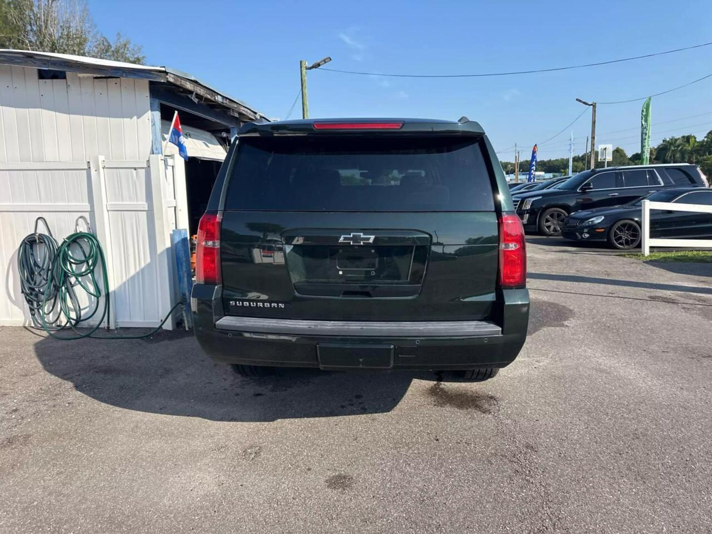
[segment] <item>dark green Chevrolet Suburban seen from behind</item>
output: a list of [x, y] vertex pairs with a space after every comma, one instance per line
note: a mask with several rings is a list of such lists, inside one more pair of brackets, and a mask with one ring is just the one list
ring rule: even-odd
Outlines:
[[199, 224], [194, 327], [238, 372], [465, 370], [527, 332], [522, 225], [480, 125], [241, 127]]

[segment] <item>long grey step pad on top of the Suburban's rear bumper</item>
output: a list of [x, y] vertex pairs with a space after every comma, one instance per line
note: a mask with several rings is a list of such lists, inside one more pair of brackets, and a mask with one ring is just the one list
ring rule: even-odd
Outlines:
[[285, 335], [342, 335], [352, 337], [462, 337], [501, 335], [489, 321], [321, 321], [261, 317], [221, 318], [218, 330]]

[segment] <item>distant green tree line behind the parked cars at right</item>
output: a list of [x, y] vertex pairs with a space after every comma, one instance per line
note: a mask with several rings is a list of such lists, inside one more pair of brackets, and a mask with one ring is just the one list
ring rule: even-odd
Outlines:
[[[640, 164], [640, 152], [628, 156], [621, 147], [613, 150], [610, 166]], [[656, 147], [650, 147], [651, 163], [696, 163], [706, 176], [712, 176], [712, 130], [705, 137], [698, 139], [695, 135], [681, 135], [662, 140]], [[513, 162], [501, 162], [504, 172], [513, 174]], [[596, 162], [596, 167], [603, 167], [604, 162]], [[574, 174], [590, 168], [590, 155], [575, 155], [572, 159]], [[569, 170], [569, 158], [539, 159], [536, 169], [541, 172], [566, 174]], [[519, 162], [519, 173], [529, 172], [529, 161]]]

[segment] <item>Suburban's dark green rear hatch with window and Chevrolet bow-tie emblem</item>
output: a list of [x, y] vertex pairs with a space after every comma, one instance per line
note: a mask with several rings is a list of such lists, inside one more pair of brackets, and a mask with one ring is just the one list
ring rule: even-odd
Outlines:
[[475, 135], [241, 137], [221, 223], [226, 315], [490, 318], [490, 169]]

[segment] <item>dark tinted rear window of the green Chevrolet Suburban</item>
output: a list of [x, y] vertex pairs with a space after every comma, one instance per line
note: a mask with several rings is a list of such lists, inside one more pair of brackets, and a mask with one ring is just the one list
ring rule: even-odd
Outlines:
[[271, 137], [240, 140], [225, 208], [493, 211], [477, 140]]

